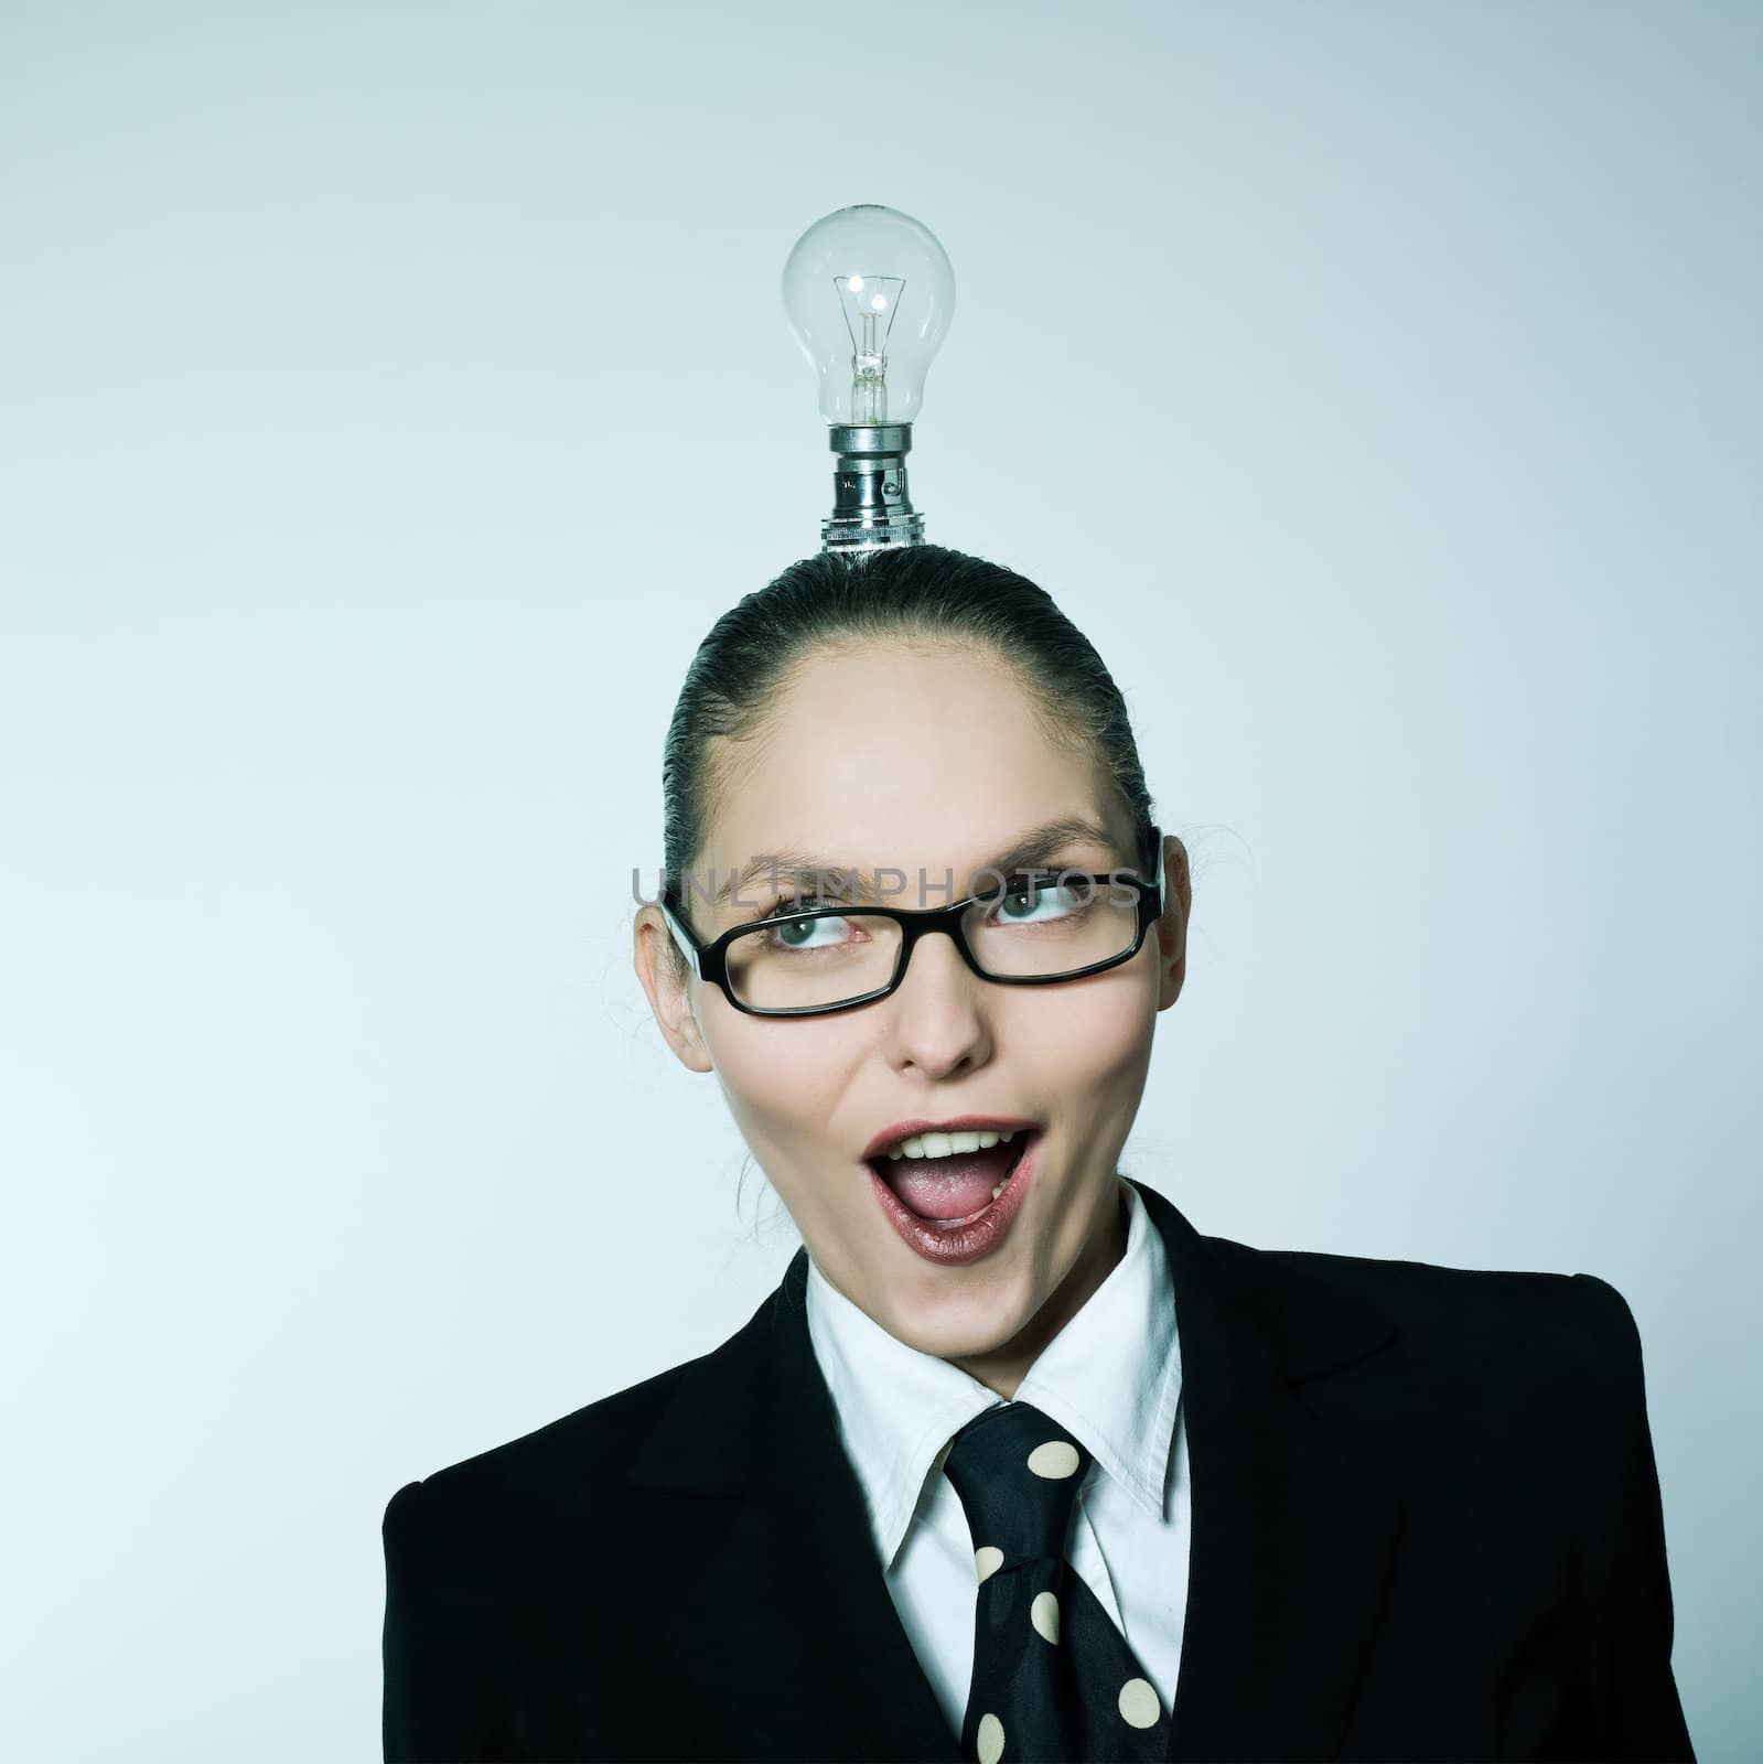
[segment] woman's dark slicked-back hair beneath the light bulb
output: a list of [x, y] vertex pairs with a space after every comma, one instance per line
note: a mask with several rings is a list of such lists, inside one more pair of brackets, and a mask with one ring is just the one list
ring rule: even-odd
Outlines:
[[[944, 545], [819, 552], [731, 607], [699, 644], [667, 725], [662, 840], [669, 889], [704, 843], [720, 781], [711, 737], [741, 741], [822, 647], [891, 639], [990, 651], [1017, 669], [1052, 741], [1087, 750], [1114, 781], [1147, 863], [1156, 822], [1126, 700], [1052, 594], [1002, 564]], [[678, 960], [672, 942], [669, 953]]]

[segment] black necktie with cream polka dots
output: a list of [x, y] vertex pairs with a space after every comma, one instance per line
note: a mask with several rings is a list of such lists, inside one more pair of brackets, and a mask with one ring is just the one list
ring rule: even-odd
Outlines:
[[944, 1475], [967, 1510], [979, 1595], [962, 1757], [1105, 1764], [1168, 1757], [1170, 1718], [1101, 1600], [1066, 1561], [1091, 1454], [1029, 1402], [971, 1420]]

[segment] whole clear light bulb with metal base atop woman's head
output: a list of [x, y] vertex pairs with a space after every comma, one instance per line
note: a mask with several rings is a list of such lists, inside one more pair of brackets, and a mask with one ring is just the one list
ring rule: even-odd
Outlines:
[[784, 310], [814, 367], [838, 453], [822, 549], [921, 545], [905, 494], [925, 374], [955, 316], [955, 272], [923, 222], [879, 203], [838, 208], [796, 240]]

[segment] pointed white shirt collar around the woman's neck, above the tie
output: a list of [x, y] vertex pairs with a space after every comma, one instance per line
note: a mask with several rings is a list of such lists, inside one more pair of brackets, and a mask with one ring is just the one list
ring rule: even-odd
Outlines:
[[[1128, 1208], [1126, 1252], [1041, 1349], [1017, 1401], [1045, 1409], [1161, 1519], [1181, 1397], [1175, 1293], [1163, 1235], [1138, 1189], [1117, 1180]], [[891, 1568], [949, 1439], [1002, 1397], [949, 1360], [891, 1335], [821, 1274], [812, 1254], [806, 1312], [875, 1545]]]

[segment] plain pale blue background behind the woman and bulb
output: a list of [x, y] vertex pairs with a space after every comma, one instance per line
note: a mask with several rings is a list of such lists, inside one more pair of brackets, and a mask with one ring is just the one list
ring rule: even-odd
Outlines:
[[1126, 1168], [1615, 1282], [1691, 1732], [1758, 1755], [1759, 51], [0, 5], [0, 1748], [378, 1757], [392, 1491], [787, 1261], [630, 871], [831, 501], [784, 256], [882, 201], [960, 282], [928, 536], [1091, 633], [1195, 854]]

